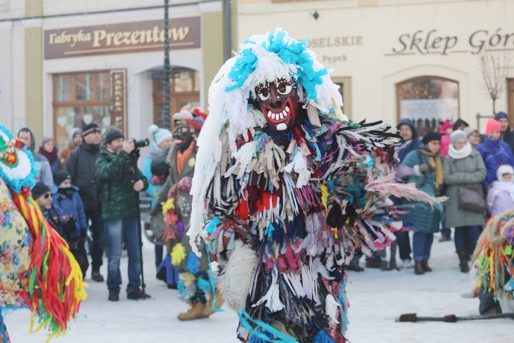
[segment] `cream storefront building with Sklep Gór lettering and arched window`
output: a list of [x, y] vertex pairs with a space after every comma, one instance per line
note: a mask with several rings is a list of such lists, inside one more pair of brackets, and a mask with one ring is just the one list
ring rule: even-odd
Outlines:
[[238, 42], [276, 27], [308, 38], [354, 121], [410, 118], [424, 134], [460, 117], [485, 130], [482, 56], [498, 62], [495, 110], [514, 118], [514, 1], [238, 0], [237, 10]]

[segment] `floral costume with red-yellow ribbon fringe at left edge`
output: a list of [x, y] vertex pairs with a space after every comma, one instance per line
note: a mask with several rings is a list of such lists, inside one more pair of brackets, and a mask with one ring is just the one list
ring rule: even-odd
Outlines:
[[[1, 312], [29, 307], [31, 332], [66, 333], [86, 291], [66, 241], [30, 196], [34, 159], [25, 143], [0, 124], [0, 342], [9, 342]], [[34, 316], [38, 325], [34, 329]]]

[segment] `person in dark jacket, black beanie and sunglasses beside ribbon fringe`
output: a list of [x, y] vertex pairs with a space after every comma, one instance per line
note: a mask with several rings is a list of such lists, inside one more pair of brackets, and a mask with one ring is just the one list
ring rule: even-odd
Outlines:
[[[82, 276], [84, 277], [88, 268], [88, 257], [84, 249], [84, 241], [80, 235], [80, 229], [75, 224], [75, 219], [71, 215], [66, 215], [59, 206], [53, 204], [52, 193], [42, 182], [36, 183], [32, 189], [32, 198], [36, 200], [42, 215], [50, 226], [68, 243], [70, 251], [77, 260], [77, 263], [79, 263]], [[81, 242], [82, 249], [79, 248]]]

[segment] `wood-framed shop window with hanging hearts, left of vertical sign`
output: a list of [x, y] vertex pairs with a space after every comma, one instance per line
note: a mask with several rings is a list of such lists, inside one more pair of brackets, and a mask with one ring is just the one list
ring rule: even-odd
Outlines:
[[111, 106], [109, 71], [53, 75], [53, 132], [59, 151], [75, 127], [110, 126]]

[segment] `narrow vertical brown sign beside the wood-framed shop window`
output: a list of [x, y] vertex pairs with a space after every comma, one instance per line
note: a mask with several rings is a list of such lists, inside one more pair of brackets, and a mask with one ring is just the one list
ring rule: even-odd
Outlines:
[[111, 125], [127, 132], [127, 69], [110, 71]]

